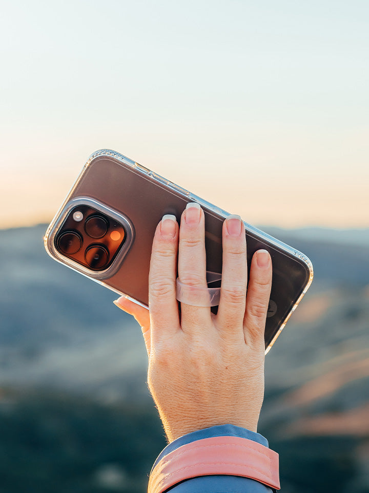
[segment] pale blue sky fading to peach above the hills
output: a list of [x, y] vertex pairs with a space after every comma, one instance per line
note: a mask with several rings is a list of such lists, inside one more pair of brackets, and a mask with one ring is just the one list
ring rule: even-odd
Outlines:
[[256, 225], [369, 227], [366, 0], [0, 3], [0, 228], [111, 148]]

